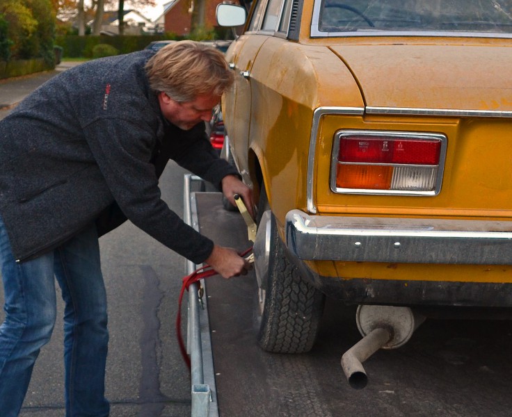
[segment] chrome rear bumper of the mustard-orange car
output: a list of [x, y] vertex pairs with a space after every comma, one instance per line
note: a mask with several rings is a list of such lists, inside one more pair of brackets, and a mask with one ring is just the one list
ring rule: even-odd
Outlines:
[[286, 216], [299, 259], [385, 263], [512, 264], [512, 222], [308, 215]]

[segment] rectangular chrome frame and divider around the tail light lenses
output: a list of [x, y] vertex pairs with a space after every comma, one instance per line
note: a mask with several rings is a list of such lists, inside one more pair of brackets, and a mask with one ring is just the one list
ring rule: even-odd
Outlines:
[[[361, 136], [386, 136], [393, 138], [415, 138], [415, 139], [435, 139], [441, 142], [441, 152], [439, 156], [439, 164], [435, 165], [438, 168], [435, 174], [435, 188], [434, 190], [422, 191], [422, 190], [373, 190], [365, 188], [338, 188], [336, 186], [336, 171], [338, 163], [338, 151], [339, 151], [339, 140], [342, 136], [361, 135]], [[441, 191], [442, 177], [445, 171], [446, 161], [446, 149], [448, 139], [445, 135], [440, 133], [430, 132], [410, 132], [410, 131], [371, 131], [371, 130], [339, 130], [335, 133], [335, 140], [333, 142], [333, 152], [331, 153], [330, 160], [330, 180], [329, 186], [333, 193], [338, 194], [365, 194], [365, 195], [416, 195], [416, 196], [433, 196], [438, 195]], [[351, 165], [392, 165], [392, 166], [426, 166], [432, 167], [433, 165], [413, 165], [413, 164], [380, 164], [380, 163], [358, 163]]]

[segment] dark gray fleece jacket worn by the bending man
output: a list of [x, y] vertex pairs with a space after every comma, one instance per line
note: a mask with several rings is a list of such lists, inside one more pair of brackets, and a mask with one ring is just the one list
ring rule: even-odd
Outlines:
[[0, 216], [15, 259], [99, 220], [102, 234], [125, 216], [195, 263], [211, 254], [211, 240], [162, 201], [158, 177], [168, 158], [218, 185], [237, 172], [218, 158], [203, 124], [182, 131], [163, 118], [144, 72], [152, 54], [66, 70], [0, 122]]

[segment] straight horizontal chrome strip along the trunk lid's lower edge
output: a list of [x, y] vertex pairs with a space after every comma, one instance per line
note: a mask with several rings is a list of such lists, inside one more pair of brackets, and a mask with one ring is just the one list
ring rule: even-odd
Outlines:
[[463, 110], [456, 108], [415, 108], [367, 106], [366, 113], [373, 115], [420, 115], [454, 117], [512, 117], [512, 111]]

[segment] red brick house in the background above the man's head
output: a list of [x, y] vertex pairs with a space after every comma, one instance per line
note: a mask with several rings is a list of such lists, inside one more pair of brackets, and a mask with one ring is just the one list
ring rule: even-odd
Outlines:
[[154, 19], [157, 31], [188, 35], [191, 30], [192, 14], [205, 2], [205, 28], [217, 26], [215, 10], [223, 0], [170, 0], [163, 5], [163, 13]]

